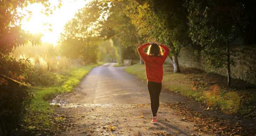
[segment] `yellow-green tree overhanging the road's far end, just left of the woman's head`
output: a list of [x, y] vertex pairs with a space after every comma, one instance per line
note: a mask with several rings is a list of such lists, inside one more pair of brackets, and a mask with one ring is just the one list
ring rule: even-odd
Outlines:
[[112, 1], [108, 9], [108, 18], [101, 22], [101, 36], [105, 39], [112, 39], [117, 49], [118, 62], [122, 64], [123, 59], [138, 58], [136, 46], [140, 39], [136, 28], [130, 23], [130, 18], [123, 12], [124, 5]]

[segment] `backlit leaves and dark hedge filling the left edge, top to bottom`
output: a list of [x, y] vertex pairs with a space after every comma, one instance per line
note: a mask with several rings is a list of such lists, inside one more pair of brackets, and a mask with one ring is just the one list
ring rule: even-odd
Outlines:
[[31, 34], [21, 29], [21, 21], [31, 16], [31, 11], [19, 13], [32, 3], [42, 3], [47, 13], [50, 10], [48, 0], [9, 0], [0, 2], [0, 135], [12, 135], [17, 128], [24, 107], [31, 98], [30, 91], [22, 85], [30, 74], [28, 59], [16, 59], [9, 54], [13, 49], [31, 42], [40, 44], [42, 34]]

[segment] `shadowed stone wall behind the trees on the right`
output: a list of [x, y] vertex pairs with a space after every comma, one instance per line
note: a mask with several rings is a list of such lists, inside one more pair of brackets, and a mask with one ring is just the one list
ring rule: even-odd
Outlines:
[[[195, 56], [195, 46], [183, 46], [179, 55], [179, 64], [183, 67], [199, 68], [206, 72], [214, 72], [227, 76], [227, 68], [211, 69], [201, 56]], [[231, 77], [256, 84], [256, 45], [231, 47]], [[171, 62], [170, 59], [167, 61]]]

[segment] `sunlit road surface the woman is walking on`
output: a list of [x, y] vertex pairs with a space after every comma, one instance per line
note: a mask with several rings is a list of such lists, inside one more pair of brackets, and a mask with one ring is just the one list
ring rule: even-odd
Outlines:
[[150, 124], [152, 113], [146, 83], [127, 74], [124, 67], [114, 65], [92, 69], [76, 91], [56, 98], [62, 104], [59, 112], [71, 122], [60, 135], [211, 135], [177, 114], [179, 111], [170, 106], [181, 97], [167, 91], [160, 95], [158, 124]]

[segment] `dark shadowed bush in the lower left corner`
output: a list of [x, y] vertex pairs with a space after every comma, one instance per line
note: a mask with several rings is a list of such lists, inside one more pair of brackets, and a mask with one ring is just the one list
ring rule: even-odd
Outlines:
[[25, 107], [30, 103], [33, 94], [26, 86], [17, 82], [6, 81], [6, 85], [0, 85], [0, 127], [1, 135], [11, 135], [18, 127]]

